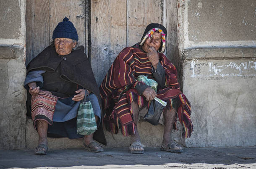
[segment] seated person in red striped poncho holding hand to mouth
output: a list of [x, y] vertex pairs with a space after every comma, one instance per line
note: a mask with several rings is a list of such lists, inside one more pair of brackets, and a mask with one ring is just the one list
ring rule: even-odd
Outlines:
[[[156, 97], [167, 102], [163, 110], [165, 129], [161, 150], [174, 153], [183, 151], [182, 146], [171, 138], [177, 118], [183, 125], [183, 137], [190, 137], [193, 130], [190, 103], [179, 90], [177, 70], [163, 54], [166, 36], [167, 31], [163, 25], [149, 24], [141, 42], [119, 53], [99, 89], [104, 103], [104, 125], [115, 134], [120, 129], [124, 136], [131, 136], [131, 153], [144, 153], [137, 122], [140, 116], [147, 113], [151, 107], [150, 102]], [[156, 91], [145, 81], [139, 80], [141, 75], [156, 81]]]

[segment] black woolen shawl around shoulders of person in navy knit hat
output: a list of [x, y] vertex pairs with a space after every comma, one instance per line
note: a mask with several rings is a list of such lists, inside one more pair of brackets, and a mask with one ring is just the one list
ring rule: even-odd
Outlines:
[[[79, 46], [77, 50], [72, 50], [70, 54], [64, 55], [63, 57], [65, 57], [66, 60], [63, 60], [63, 58], [56, 53], [55, 46], [52, 44], [45, 48], [29, 63], [27, 66], [27, 73], [33, 70], [54, 72], [60, 65], [60, 77], [64, 81], [76, 83], [97, 96], [102, 116], [99, 88], [91, 70], [90, 62], [84, 53], [84, 46]], [[30, 96], [28, 96], [28, 98], [29, 97]], [[101, 144], [107, 145], [102, 123], [103, 121], [100, 123], [98, 130], [94, 133], [94, 139]]]

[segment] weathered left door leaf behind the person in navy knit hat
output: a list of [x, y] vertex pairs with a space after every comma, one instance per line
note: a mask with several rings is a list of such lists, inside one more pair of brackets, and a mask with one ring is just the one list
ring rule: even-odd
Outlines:
[[68, 17], [78, 44], [88, 54], [89, 2], [86, 0], [26, 0], [26, 65], [52, 42], [52, 33]]

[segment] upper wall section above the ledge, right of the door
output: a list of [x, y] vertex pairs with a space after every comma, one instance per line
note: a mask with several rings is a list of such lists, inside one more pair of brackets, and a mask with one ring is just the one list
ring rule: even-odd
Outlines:
[[179, 0], [180, 50], [256, 47], [254, 0]]

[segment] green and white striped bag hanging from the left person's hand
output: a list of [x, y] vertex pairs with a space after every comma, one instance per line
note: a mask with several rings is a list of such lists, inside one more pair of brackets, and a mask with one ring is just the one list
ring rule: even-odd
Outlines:
[[81, 135], [89, 135], [97, 130], [96, 119], [91, 106], [91, 101], [86, 101], [86, 94], [84, 101], [81, 101], [79, 104], [76, 130], [77, 133]]

